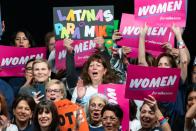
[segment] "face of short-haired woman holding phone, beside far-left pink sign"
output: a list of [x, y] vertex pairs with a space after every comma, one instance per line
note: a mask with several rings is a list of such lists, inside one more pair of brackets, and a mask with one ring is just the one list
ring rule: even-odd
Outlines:
[[33, 76], [36, 82], [46, 82], [51, 75], [51, 70], [45, 62], [33, 65]]

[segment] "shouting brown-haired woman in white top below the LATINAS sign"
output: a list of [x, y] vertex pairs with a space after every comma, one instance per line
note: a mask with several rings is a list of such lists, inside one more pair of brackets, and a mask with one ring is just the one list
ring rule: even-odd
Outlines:
[[94, 54], [83, 67], [81, 79], [72, 95], [72, 102], [85, 106], [89, 98], [98, 93], [99, 85], [117, 82], [118, 77], [112, 72], [109, 62], [102, 55]]

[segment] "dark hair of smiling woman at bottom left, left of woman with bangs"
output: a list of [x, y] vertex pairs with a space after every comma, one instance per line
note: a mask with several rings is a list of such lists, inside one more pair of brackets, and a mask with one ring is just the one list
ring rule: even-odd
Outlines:
[[27, 104], [29, 105], [31, 111], [33, 112], [34, 111], [34, 107], [36, 105], [35, 101], [34, 101], [34, 99], [31, 96], [28, 96], [26, 94], [19, 94], [18, 96], [16, 96], [16, 98], [14, 99], [14, 102], [12, 104], [12, 109], [16, 109], [18, 103], [20, 101], [22, 101], [22, 100], [27, 102]]

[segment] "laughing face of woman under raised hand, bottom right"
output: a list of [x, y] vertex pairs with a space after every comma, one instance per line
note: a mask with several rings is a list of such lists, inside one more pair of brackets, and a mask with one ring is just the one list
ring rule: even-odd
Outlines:
[[142, 128], [152, 128], [154, 127], [156, 121], [157, 118], [155, 116], [155, 112], [152, 109], [150, 109], [150, 107], [147, 104], [144, 104], [140, 112], [140, 122]]

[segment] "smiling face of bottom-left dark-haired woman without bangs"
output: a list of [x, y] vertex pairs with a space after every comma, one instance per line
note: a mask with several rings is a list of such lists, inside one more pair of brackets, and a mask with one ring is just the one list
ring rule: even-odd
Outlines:
[[19, 122], [29, 122], [32, 118], [32, 111], [25, 100], [21, 100], [15, 109], [13, 109], [14, 116]]

